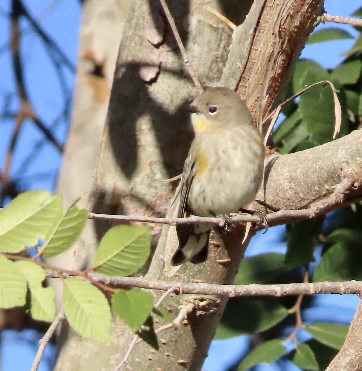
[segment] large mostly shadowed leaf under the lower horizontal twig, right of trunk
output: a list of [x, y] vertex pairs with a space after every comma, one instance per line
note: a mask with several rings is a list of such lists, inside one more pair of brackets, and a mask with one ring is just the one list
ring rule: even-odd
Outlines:
[[[288, 309], [276, 298], [233, 298], [227, 303], [221, 322], [233, 336], [240, 336], [265, 331], [288, 315]], [[216, 329], [215, 339], [228, 336], [225, 330]]]

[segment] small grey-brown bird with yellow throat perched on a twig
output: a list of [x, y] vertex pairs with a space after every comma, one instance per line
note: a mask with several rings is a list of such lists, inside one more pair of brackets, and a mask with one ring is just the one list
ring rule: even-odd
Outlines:
[[[195, 138], [180, 184], [178, 217], [228, 215], [247, 207], [262, 182], [265, 148], [235, 91], [209, 88], [191, 105]], [[178, 224], [173, 266], [207, 259], [210, 224]]]

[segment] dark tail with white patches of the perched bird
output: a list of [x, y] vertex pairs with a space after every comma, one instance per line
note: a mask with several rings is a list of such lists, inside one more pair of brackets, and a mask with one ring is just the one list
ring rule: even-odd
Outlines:
[[177, 236], [180, 246], [171, 259], [171, 265], [180, 265], [187, 260], [202, 263], [207, 259], [211, 228], [207, 224], [179, 224]]

